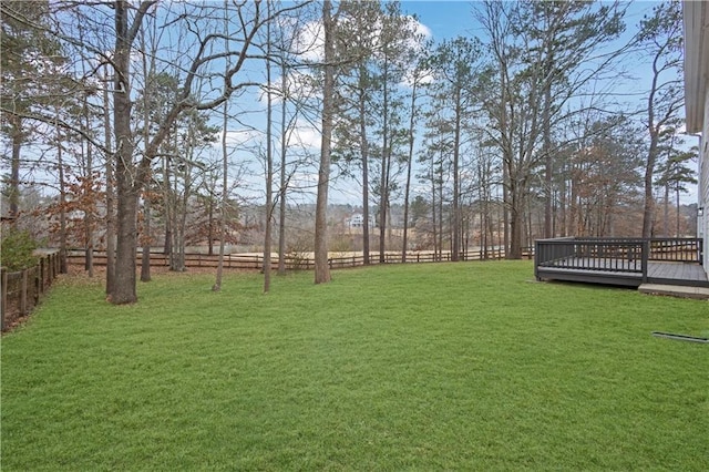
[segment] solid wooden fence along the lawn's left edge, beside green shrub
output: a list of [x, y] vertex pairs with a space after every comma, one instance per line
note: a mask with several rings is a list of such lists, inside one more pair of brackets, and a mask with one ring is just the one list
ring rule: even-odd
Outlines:
[[56, 278], [60, 267], [59, 250], [42, 255], [37, 266], [29, 269], [11, 273], [2, 267], [0, 330], [4, 331], [34, 309]]

